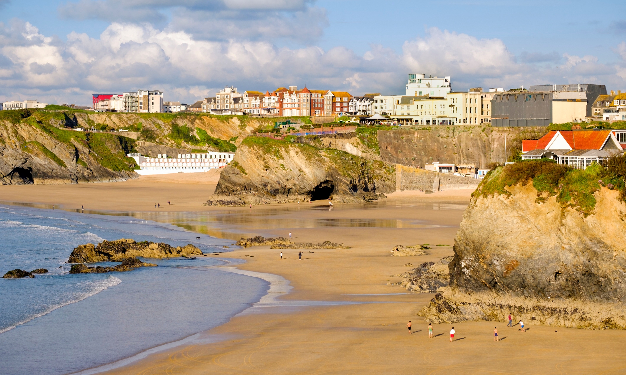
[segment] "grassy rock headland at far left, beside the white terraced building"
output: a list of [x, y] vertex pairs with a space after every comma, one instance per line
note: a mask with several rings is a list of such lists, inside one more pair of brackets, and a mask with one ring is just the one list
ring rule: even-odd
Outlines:
[[0, 184], [76, 184], [135, 178], [134, 141], [57, 128], [73, 119], [41, 111], [0, 112]]

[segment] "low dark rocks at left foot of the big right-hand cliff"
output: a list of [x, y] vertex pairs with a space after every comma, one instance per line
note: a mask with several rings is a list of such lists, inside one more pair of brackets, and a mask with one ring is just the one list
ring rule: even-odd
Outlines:
[[448, 286], [450, 279], [448, 264], [451, 260], [451, 256], [446, 256], [438, 262], [423, 262], [419, 267], [399, 274], [403, 280], [395, 284], [409, 292], [434, 293], [441, 287]]

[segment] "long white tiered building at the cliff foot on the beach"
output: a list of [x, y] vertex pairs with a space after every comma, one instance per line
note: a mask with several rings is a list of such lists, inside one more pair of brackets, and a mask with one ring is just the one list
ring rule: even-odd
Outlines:
[[146, 174], [207, 172], [230, 163], [235, 153], [208, 151], [202, 154], [179, 154], [178, 158], [168, 158], [167, 154], [159, 154], [158, 158], [146, 158], [141, 154], [128, 154], [128, 156], [135, 159], [140, 168], [135, 169], [135, 172], [144, 176]]

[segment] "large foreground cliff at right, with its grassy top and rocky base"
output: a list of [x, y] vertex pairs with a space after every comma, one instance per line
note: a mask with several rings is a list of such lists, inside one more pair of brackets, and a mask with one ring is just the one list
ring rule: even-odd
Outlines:
[[[623, 158], [615, 158], [624, 164]], [[421, 314], [626, 328], [625, 165], [528, 161], [491, 171], [464, 212], [450, 287]]]

